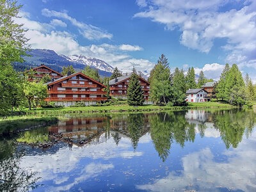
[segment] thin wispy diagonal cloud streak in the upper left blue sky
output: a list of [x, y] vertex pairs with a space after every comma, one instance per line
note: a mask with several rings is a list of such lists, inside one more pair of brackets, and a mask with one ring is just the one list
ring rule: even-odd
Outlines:
[[74, 26], [79, 28], [79, 33], [83, 35], [88, 40], [100, 40], [101, 38], [112, 38], [112, 34], [100, 29], [98, 27], [92, 26], [91, 24], [85, 24], [84, 22], [79, 22], [76, 19], [70, 17], [66, 12], [56, 12], [54, 10], [48, 10], [44, 8], [42, 10], [42, 15], [45, 17], [58, 17], [61, 19], [69, 20]]

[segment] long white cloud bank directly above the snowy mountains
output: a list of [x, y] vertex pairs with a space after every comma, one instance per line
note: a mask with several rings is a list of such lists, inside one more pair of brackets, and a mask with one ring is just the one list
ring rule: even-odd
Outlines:
[[[47, 17], [66, 18], [72, 21], [74, 25], [79, 26], [79, 28], [83, 28], [84, 26], [83, 23], [77, 22], [76, 19], [69, 17], [67, 13], [44, 10], [44, 15], [47, 15]], [[67, 56], [83, 54], [92, 58], [99, 58], [113, 67], [118, 67], [123, 72], [131, 71], [133, 66], [138, 71], [147, 70], [148, 72], [154, 67], [154, 63], [151, 61], [132, 58], [131, 55], [127, 54], [129, 51], [141, 51], [142, 48], [138, 45], [91, 44], [82, 46], [77, 42], [76, 36], [67, 31], [55, 30], [56, 24], [60, 26], [61, 20], [57, 21], [58, 19], [53, 19], [54, 21], [51, 21], [51, 24], [45, 24], [31, 20], [28, 13], [22, 13], [21, 16], [21, 18], [17, 19], [17, 23], [24, 24], [24, 28], [28, 29], [25, 35], [29, 38], [29, 44], [31, 44], [31, 48], [33, 49], [51, 49], [58, 54], [65, 54]]]

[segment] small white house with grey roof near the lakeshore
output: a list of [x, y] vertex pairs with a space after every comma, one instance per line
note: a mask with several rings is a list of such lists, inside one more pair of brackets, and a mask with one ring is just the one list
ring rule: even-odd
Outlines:
[[209, 97], [207, 97], [208, 92], [205, 91], [204, 88], [200, 89], [189, 89], [186, 92], [187, 98], [186, 101], [188, 102], [207, 102], [209, 101]]

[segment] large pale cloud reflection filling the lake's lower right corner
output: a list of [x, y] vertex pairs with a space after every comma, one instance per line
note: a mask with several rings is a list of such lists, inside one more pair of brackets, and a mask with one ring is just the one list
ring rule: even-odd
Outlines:
[[[223, 153], [226, 163], [214, 161], [209, 148], [182, 158], [184, 170], [172, 172], [154, 184], [138, 185], [138, 189], [150, 191], [170, 191], [171, 189], [197, 189], [209, 191], [215, 188], [241, 189], [253, 191], [256, 188], [256, 132], [239, 147]], [[178, 190], [178, 191], [179, 191]]]

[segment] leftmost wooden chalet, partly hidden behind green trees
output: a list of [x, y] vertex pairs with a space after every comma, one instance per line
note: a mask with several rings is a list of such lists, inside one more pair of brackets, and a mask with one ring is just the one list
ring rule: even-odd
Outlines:
[[51, 79], [59, 79], [60, 77], [63, 77], [63, 75], [60, 74], [59, 72], [56, 72], [55, 70], [52, 70], [51, 68], [46, 67], [43, 64], [40, 67], [26, 70], [24, 73], [29, 74], [28, 81], [41, 81], [42, 77], [46, 75], [49, 75]]

